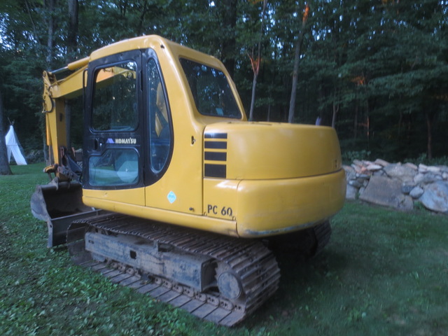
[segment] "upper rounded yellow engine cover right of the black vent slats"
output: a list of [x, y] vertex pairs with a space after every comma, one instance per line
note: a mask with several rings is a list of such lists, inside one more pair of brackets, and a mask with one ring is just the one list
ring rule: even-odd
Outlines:
[[228, 134], [227, 179], [293, 179], [328, 174], [342, 167], [339, 141], [332, 127], [218, 123], [208, 125], [205, 132]]

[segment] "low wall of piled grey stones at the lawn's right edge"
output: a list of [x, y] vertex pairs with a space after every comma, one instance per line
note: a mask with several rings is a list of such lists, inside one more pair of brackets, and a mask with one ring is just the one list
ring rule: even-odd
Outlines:
[[343, 166], [347, 200], [411, 211], [420, 202], [426, 209], [448, 215], [448, 167], [413, 163], [353, 160]]

